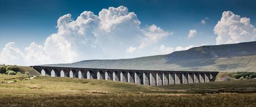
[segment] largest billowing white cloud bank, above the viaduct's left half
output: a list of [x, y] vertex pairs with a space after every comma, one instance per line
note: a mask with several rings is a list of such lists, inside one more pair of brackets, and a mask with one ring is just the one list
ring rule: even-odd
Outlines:
[[157, 25], [142, 27], [134, 12], [124, 6], [109, 7], [95, 15], [84, 11], [73, 19], [67, 14], [59, 17], [56, 28], [43, 45], [30, 43], [24, 50], [7, 43], [1, 51], [0, 64], [37, 65], [72, 63], [88, 59], [118, 59], [151, 53], [152, 44], [171, 35]]

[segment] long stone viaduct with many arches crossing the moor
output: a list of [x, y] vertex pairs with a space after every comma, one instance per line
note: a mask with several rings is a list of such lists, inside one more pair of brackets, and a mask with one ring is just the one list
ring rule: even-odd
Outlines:
[[51, 77], [107, 79], [111, 81], [144, 84], [147, 86], [214, 82], [218, 74], [218, 72], [193, 72], [169, 70], [67, 68], [56, 66], [30, 67], [36, 69], [42, 75], [47, 74], [51, 75]]

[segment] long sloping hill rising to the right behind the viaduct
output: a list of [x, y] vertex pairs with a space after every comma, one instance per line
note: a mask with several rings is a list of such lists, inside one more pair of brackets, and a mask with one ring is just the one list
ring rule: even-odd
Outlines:
[[70, 64], [42, 66], [256, 72], [256, 42], [200, 46], [185, 51], [175, 51], [167, 55], [145, 56], [134, 59], [85, 60]]

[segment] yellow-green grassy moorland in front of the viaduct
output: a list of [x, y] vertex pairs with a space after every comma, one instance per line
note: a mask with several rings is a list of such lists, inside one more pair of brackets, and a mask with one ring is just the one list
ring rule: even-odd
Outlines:
[[[17, 75], [0, 75], [0, 106], [256, 105], [256, 93], [253, 91], [256, 88], [256, 79], [159, 87], [60, 77], [37, 77], [26, 81], [6, 83], [15, 76]], [[215, 94], [205, 91], [223, 88], [251, 90], [242, 93], [215, 91]]]

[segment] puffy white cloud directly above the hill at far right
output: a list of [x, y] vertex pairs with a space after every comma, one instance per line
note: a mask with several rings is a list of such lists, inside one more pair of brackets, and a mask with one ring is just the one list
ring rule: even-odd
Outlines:
[[250, 18], [224, 11], [214, 27], [216, 44], [249, 42], [256, 40], [256, 29], [250, 24]]

